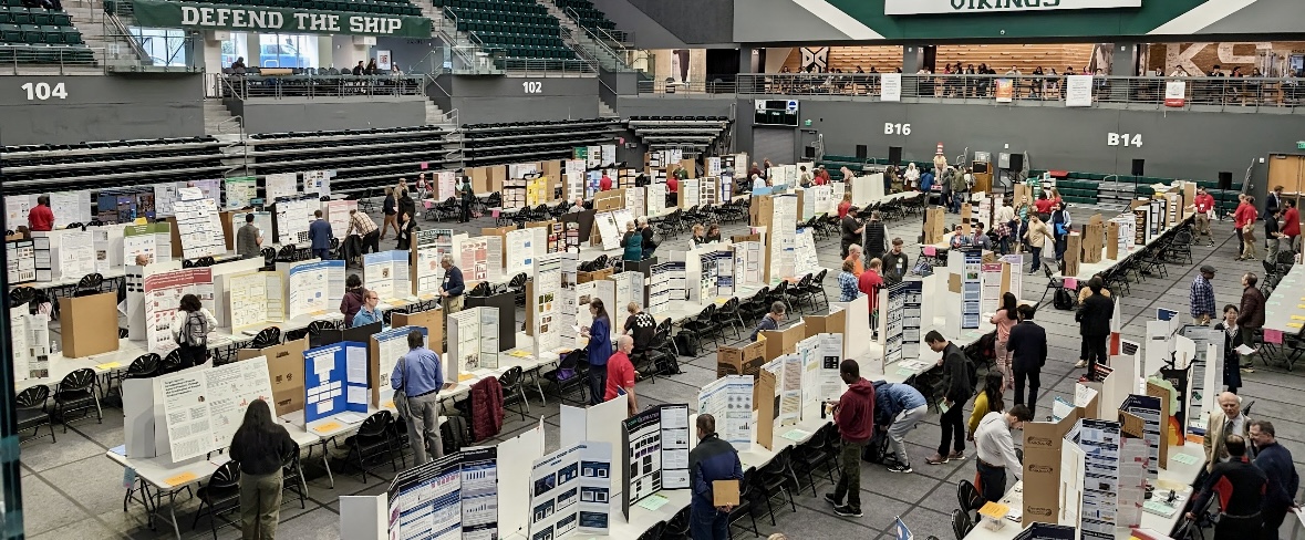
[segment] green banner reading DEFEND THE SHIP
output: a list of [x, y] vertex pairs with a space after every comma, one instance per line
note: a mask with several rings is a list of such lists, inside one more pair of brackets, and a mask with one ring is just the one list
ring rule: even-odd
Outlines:
[[134, 0], [140, 26], [241, 30], [287, 34], [390, 35], [429, 38], [431, 20], [384, 13], [324, 12], [318, 9], [254, 8]]

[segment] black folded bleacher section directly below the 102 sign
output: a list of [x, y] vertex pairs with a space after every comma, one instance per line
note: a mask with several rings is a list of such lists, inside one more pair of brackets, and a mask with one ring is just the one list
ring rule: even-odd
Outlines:
[[468, 166], [566, 159], [576, 146], [611, 143], [616, 120], [552, 120], [512, 124], [465, 124]]

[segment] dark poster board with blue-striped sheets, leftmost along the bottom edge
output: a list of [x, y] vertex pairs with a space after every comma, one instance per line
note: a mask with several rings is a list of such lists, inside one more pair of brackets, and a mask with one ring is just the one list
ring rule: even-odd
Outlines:
[[386, 492], [389, 537], [500, 537], [497, 459], [497, 447], [474, 446], [401, 471]]

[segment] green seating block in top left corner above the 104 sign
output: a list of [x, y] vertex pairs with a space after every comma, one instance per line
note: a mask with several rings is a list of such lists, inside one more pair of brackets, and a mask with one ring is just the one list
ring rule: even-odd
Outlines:
[[0, 64], [86, 64], [94, 60], [67, 12], [26, 8], [22, 0], [0, 0]]

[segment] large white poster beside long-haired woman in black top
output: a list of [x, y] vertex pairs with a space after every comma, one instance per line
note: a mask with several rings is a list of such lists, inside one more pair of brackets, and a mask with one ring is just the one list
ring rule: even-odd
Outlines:
[[249, 403], [271, 402], [268, 359], [262, 356], [153, 381], [174, 463], [230, 446]]

